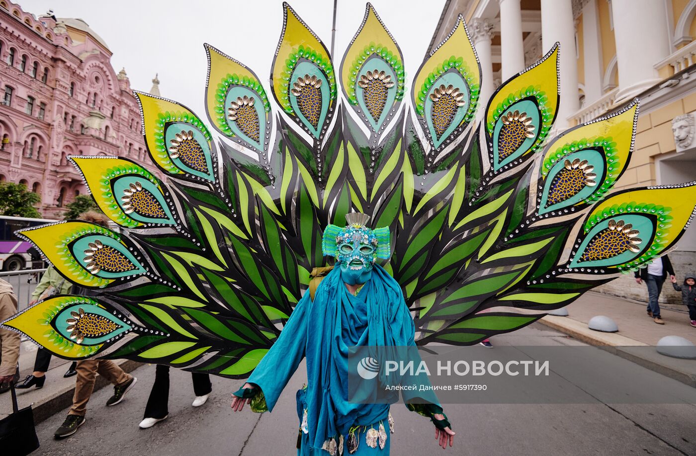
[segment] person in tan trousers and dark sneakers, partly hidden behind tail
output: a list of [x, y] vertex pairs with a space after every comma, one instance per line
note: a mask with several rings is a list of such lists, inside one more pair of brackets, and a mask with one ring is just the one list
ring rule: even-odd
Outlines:
[[[102, 227], [108, 227], [109, 219], [101, 213], [86, 212], [81, 214], [79, 219], [102, 225]], [[80, 289], [77, 292], [73, 291], [72, 294], [86, 296], [90, 293], [86, 289]], [[75, 381], [75, 393], [72, 396], [72, 407], [70, 407], [68, 412], [68, 418], [65, 418], [63, 425], [56, 430], [54, 434], [56, 439], [74, 434], [77, 432], [77, 428], [86, 421], [87, 402], [89, 402], [89, 398], [92, 396], [97, 373], [114, 385], [113, 396], [106, 401], [106, 405], [116, 405], [121, 402], [125, 393], [130, 391], [138, 380], [136, 377], [125, 373], [122, 368], [118, 367], [110, 359], [84, 359], [83, 361], [77, 361], [75, 370], [77, 371], [77, 380]]]

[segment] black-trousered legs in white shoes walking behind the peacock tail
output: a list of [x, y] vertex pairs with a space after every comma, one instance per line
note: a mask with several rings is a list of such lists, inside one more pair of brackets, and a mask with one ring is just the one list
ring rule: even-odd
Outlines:
[[[210, 391], [212, 391], [212, 383], [210, 375], [192, 372], [191, 379], [193, 380], [193, 393], [196, 398], [193, 399], [193, 407], [200, 407], [208, 400]], [[139, 424], [141, 429], [152, 428], [159, 421], [166, 420], [169, 416], [169, 366], [157, 364], [155, 368], [155, 383], [152, 384], [152, 391], [148, 398], [148, 405], [145, 405], [145, 414], [143, 421]]]

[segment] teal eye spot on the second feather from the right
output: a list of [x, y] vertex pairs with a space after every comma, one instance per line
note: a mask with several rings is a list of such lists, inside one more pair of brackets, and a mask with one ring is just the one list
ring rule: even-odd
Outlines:
[[557, 161], [544, 180], [539, 214], [564, 209], [589, 198], [604, 179], [606, 165], [596, 149], [585, 149]]

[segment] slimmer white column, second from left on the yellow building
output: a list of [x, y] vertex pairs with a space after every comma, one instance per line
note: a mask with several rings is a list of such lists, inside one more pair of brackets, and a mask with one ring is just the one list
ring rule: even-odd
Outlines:
[[500, 70], [503, 81], [524, 70], [524, 43], [522, 42], [522, 9], [520, 0], [500, 2]]

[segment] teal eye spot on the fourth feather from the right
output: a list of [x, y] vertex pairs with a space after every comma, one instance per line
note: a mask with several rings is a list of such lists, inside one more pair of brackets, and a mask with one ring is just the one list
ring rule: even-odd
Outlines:
[[438, 148], [464, 122], [470, 104], [469, 87], [457, 70], [440, 76], [423, 104], [433, 145]]

